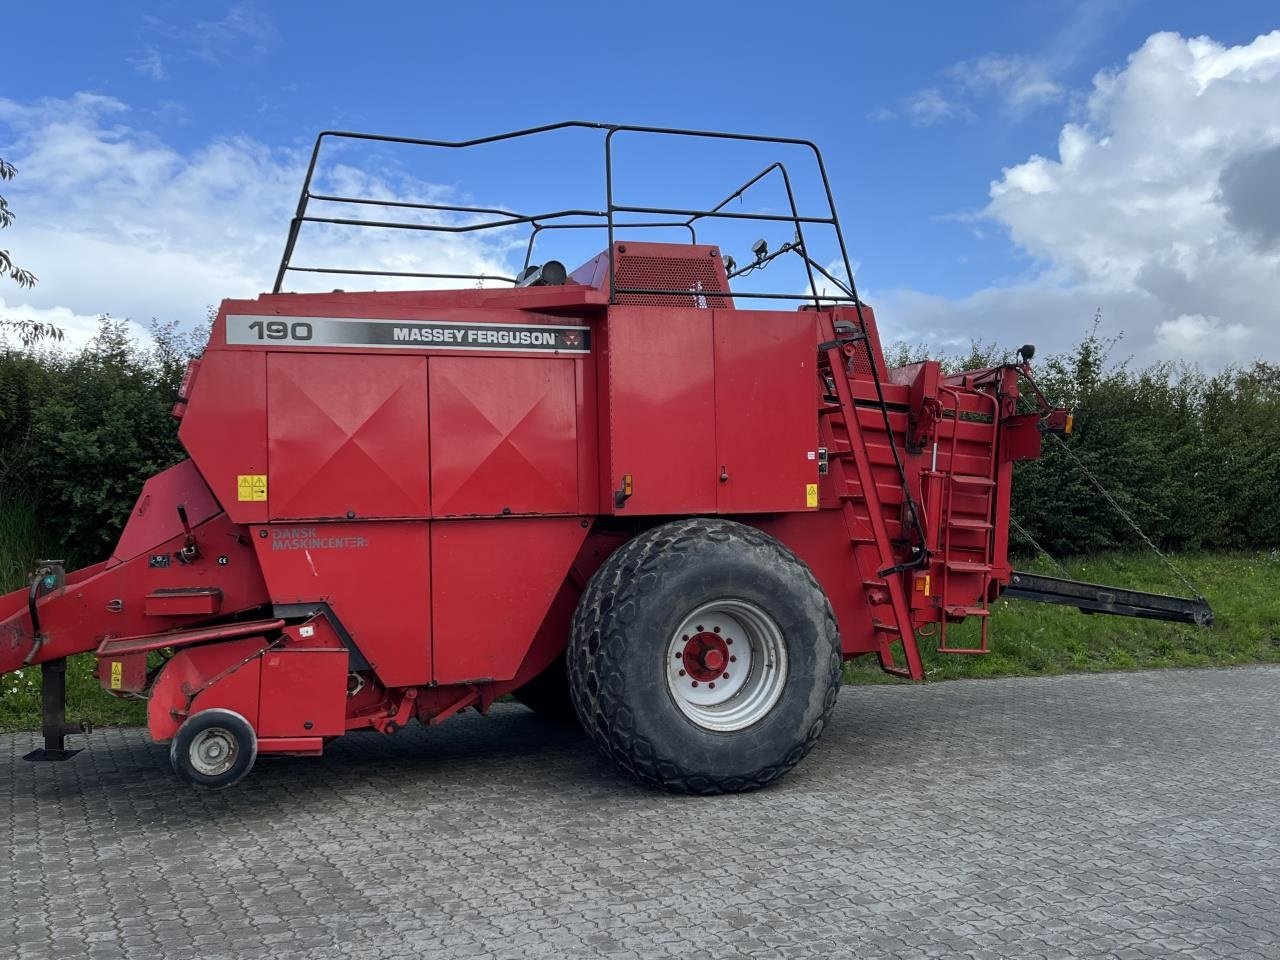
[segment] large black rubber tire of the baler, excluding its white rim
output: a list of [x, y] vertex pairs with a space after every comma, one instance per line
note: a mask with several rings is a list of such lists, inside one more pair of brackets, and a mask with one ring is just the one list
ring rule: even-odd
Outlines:
[[[777, 700], [727, 732], [691, 719], [668, 685], [682, 681], [667, 672], [685, 620], [714, 603], [763, 611], [786, 657]], [[840, 666], [836, 618], [809, 568], [760, 530], [698, 517], [611, 556], [582, 594], [568, 645], [570, 692], [596, 746], [641, 782], [685, 794], [754, 790], [795, 767], [836, 705]]]

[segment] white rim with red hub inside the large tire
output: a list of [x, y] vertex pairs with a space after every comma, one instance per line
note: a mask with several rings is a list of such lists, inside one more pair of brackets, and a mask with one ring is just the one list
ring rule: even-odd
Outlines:
[[782, 628], [749, 600], [704, 603], [672, 634], [666, 654], [671, 699], [704, 730], [758, 723], [787, 682]]

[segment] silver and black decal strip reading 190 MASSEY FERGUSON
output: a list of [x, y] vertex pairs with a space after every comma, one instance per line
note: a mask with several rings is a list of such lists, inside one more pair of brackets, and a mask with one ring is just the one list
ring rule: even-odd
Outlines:
[[276, 347], [379, 347], [502, 353], [590, 353], [586, 326], [472, 324], [453, 320], [365, 320], [337, 316], [227, 317], [227, 342]]

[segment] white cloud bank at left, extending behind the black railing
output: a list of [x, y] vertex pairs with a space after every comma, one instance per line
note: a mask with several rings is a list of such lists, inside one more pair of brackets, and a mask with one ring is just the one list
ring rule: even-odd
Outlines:
[[[142, 324], [195, 323], [224, 297], [270, 289], [310, 151], [230, 137], [184, 155], [131, 125], [133, 119], [125, 104], [97, 95], [38, 104], [0, 99], [0, 156], [20, 172], [5, 189], [18, 220], [4, 239], [40, 278], [32, 291], [5, 292], [5, 316], [82, 323], [105, 312]], [[342, 165], [319, 186], [411, 201], [452, 196], [408, 177]], [[495, 237], [315, 228], [305, 232], [294, 262], [509, 275], [507, 253], [507, 241]], [[367, 285], [297, 274], [289, 288]]]

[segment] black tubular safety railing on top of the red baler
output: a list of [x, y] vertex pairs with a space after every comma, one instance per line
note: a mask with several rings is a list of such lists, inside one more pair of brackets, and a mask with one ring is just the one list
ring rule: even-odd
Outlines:
[[[520, 140], [524, 137], [534, 137], [544, 133], [553, 133], [558, 131], [568, 129], [586, 129], [586, 131], [599, 131], [603, 134], [603, 148], [604, 148], [604, 206], [603, 209], [567, 209], [567, 210], [552, 210], [538, 214], [524, 214], [515, 210], [507, 210], [504, 207], [493, 206], [476, 206], [476, 205], [463, 205], [463, 204], [429, 204], [417, 202], [407, 200], [393, 200], [385, 197], [360, 197], [360, 196], [343, 196], [328, 192], [314, 192], [312, 188], [316, 180], [316, 172], [320, 163], [320, 156], [326, 146], [332, 141], [364, 141], [372, 143], [387, 143], [387, 145], [404, 145], [404, 146], [420, 146], [420, 147], [436, 147], [443, 150], [465, 150], [467, 147], [479, 147], [484, 145], [500, 143], [504, 141]], [[652, 136], [666, 136], [666, 137], [682, 137], [682, 138], [701, 138], [713, 141], [741, 141], [748, 143], [773, 143], [782, 145], [787, 147], [800, 147], [812, 154], [814, 163], [817, 165], [817, 172], [822, 182], [822, 189], [826, 200], [826, 211], [822, 215], [805, 215], [801, 214], [796, 202], [795, 189], [792, 188], [791, 177], [787, 168], [781, 161], [776, 161], [765, 166], [755, 177], [751, 177], [733, 192], [731, 192], [722, 201], [712, 207], [707, 209], [678, 209], [678, 207], [655, 207], [655, 206], [636, 206], [617, 202], [614, 196], [614, 138], [620, 134], [652, 134]], [[744, 212], [744, 211], [730, 211], [726, 207], [733, 200], [741, 198], [749, 189], [759, 184], [771, 174], [777, 174], [781, 178], [782, 186], [786, 192], [787, 212], [783, 214], [768, 214], [768, 212]], [[448, 220], [438, 220], [430, 223], [412, 221], [412, 220], [388, 220], [388, 219], [361, 219], [356, 216], [339, 216], [339, 215], [325, 215], [328, 207], [332, 205], [357, 205], [365, 207], [379, 207], [384, 210], [401, 211], [403, 214], [439, 214], [451, 218], [461, 218], [465, 221], [454, 223]], [[643, 216], [645, 219], [631, 219], [636, 216]], [[792, 291], [763, 291], [763, 292], [749, 292], [749, 291], [736, 291], [735, 297], [749, 298], [749, 300], [788, 300], [788, 301], [813, 301], [815, 305], [822, 303], [856, 303], [856, 294], [852, 288], [851, 278], [852, 273], [850, 269], [849, 251], [845, 247], [844, 234], [840, 228], [840, 219], [836, 214], [835, 200], [831, 192], [831, 183], [827, 178], [827, 169], [822, 159], [822, 152], [818, 150], [817, 145], [808, 140], [796, 140], [791, 137], [767, 137], [759, 134], [742, 134], [742, 133], [722, 133], [717, 131], [695, 131], [695, 129], [675, 129], [667, 127], [637, 127], [627, 124], [607, 124], [607, 123], [589, 123], [581, 120], [567, 120], [564, 123], [545, 124], [541, 127], [531, 127], [522, 131], [513, 131], [511, 133], [499, 133], [492, 137], [477, 137], [474, 140], [462, 141], [445, 141], [445, 140], [425, 140], [416, 137], [390, 137], [375, 133], [353, 133], [344, 131], [325, 131], [316, 137], [315, 146], [311, 151], [311, 161], [307, 165], [307, 174], [302, 183], [302, 191], [298, 196], [298, 206], [293, 219], [289, 221], [288, 239], [284, 246], [284, 255], [280, 257], [280, 266], [276, 271], [275, 285], [273, 291], [279, 293], [283, 287], [288, 274], [339, 274], [339, 275], [352, 275], [352, 276], [388, 276], [388, 278], [417, 278], [417, 279], [431, 279], [431, 280], [494, 280], [502, 283], [517, 283], [517, 278], [506, 276], [500, 274], [466, 274], [466, 273], [439, 273], [439, 271], [407, 271], [407, 270], [380, 270], [380, 269], [362, 269], [362, 268], [344, 268], [344, 266], [311, 266], [311, 265], [298, 265], [293, 262], [294, 251], [297, 250], [298, 238], [303, 230], [305, 224], [326, 224], [330, 227], [349, 227], [361, 229], [397, 229], [397, 230], [412, 230], [412, 232], [426, 232], [426, 233], [439, 233], [439, 234], [474, 234], [484, 230], [498, 230], [509, 229], [516, 227], [529, 228], [529, 239], [525, 248], [525, 262], [524, 268], [527, 269], [532, 260], [534, 246], [539, 237], [548, 230], [604, 230], [608, 237], [608, 257], [609, 257], [609, 300], [616, 301], [620, 294], [648, 294], [648, 296], [681, 296], [687, 294], [687, 289], [668, 291], [668, 289], [655, 289], [655, 288], [637, 288], [637, 287], [618, 287], [617, 274], [614, 270], [614, 236], [622, 230], [639, 230], [639, 229], [681, 229], [689, 232], [689, 238], [691, 243], [698, 242], [698, 227], [707, 220], [732, 220], [732, 221], [756, 221], [762, 224], [790, 224], [795, 232], [795, 241], [787, 244], [788, 252], [797, 253], [805, 266], [805, 275], [808, 278], [808, 292], [797, 293]], [[827, 268], [823, 268], [813, 257], [809, 256], [809, 247], [805, 238], [806, 227], [826, 227], [833, 230], [836, 244], [838, 246], [838, 252], [841, 261], [844, 264], [845, 275], [850, 278], [850, 283], [845, 283], [835, 278]], [[826, 291], [819, 292], [817, 279], [818, 276], [829, 280], [837, 293], [829, 294]]]

